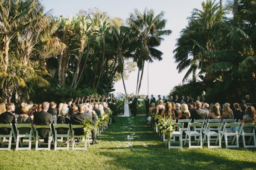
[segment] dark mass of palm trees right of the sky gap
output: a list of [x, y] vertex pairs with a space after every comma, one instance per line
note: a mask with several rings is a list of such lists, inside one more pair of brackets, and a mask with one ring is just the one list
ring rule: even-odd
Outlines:
[[[191, 74], [193, 78], [176, 86], [170, 95], [196, 98], [205, 91], [209, 102], [241, 102], [249, 94], [256, 101], [256, 0], [222, 4], [204, 1], [202, 9], [194, 9], [188, 17], [174, 59], [179, 72], [188, 68], [183, 82]], [[230, 13], [232, 17], [227, 17]]]

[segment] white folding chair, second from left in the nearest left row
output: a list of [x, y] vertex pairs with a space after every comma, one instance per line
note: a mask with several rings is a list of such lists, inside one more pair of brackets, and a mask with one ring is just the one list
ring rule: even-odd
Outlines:
[[[32, 123], [30, 123], [30, 124], [23, 124], [23, 123], [15, 124], [15, 127], [16, 127], [16, 131], [17, 131], [16, 150], [31, 150], [32, 136], [33, 136], [33, 139], [35, 142], [35, 136], [33, 133]], [[29, 130], [29, 133], [28, 134], [20, 134], [20, 128], [27, 128]], [[23, 145], [25, 145], [25, 143], [23, 143], [20, 138], [29, 138], [29, 140], [28, 140], [29, 147], [23, 147]], [[19, 144], [21, 147], [19, 147]]]

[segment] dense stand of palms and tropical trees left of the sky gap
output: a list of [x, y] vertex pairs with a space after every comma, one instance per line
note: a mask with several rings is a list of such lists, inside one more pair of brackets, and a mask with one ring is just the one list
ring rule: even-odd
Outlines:
[[106, 95], [120, 75], [125, 88], [134, 65], [138, 94], [145, 62], [162, 59], [156, 48], [171, 34], [163, 15], [135, 9], [125, 25], [97, 8], [65, 18], [45, 13], [40, 0], [0, 0], [0, 100]]

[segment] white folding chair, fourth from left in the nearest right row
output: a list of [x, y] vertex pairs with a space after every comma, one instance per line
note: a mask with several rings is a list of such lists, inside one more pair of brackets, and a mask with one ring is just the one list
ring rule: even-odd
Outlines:
[[[231, 130], [231, 127], [236, 127], [236, 131], [233, 132]], [[225, 144], [227, 148], [230, 147], [239, 147], [239, 141], [238, 141], [238, 128], [239, 128], [239, 123], [225, 123], [223, 130], [221, 131], [221, 141], [223, 136], [225, 136]], [[233, 141], [228, 141], [228, 136], [233, 136]], [[232, 142], [232, 144], [235, 142], [236, 139], [236, 145], [229, 145], [228, 142]], [[218, 140], [216, 141], [216, 143]]]

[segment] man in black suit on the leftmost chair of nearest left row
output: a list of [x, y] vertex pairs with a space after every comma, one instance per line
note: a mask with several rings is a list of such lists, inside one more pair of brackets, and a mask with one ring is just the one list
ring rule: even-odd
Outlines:
[[[13, 103], [6, 104], [6, 112], [0, 114], [0, 123], [1, 124], [12, 124], [13, 129], [15, 130], [15, 116], [12, 115], [12, 113], [15, 111], [15, 105]], [[0, 133], [2, 135], [10, 134], [11, 129], [10, 128], [0, 128]], [[12, 138], [12, 142], [14, 141], [14, 138]]]

